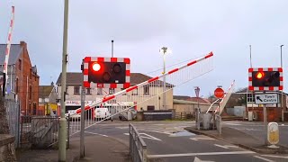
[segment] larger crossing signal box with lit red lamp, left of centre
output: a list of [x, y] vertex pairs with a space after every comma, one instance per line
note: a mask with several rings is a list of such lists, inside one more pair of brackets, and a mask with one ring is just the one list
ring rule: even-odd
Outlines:
[[130, 86], [130, 58], [84, 59], [85, 87], [127, 88]]

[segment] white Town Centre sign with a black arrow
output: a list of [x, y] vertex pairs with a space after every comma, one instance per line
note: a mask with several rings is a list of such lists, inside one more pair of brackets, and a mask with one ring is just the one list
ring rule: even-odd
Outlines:
[[255, 94], [255, 103], [257, 104], [278, 103], [278, 94]]

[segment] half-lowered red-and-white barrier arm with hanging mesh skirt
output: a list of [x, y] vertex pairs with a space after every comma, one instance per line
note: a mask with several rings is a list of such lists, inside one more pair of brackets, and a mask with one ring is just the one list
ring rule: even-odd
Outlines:
[[[110, 120], [121, 112], [128, 111], [139, 103], [157, 101], [162, 94], [172, 93], [175, 86], [183, 85], [186, 82], [209, 73], [213, 69], [213, 53], [194, 59], [182, 67], [172, 69], [161, 76], [155, 76], [138, 85], [132, 85], [127, 89], [110, 94], [101, 100], [85, 105], [85, 129], [104, 120]], [[108, 115], [97, 118], [97, 111], [101, 108], [109, 108]], [[80, 115], [81, 108], [70, 111], [66, 116]], [[80, 130], [79, 119], [72, 118], [70, 123], [70, 135], [74, 135]], [[75, 120], [75, 121], [74, 121]], [[81, 120], [81, 119], [80, 119]]]

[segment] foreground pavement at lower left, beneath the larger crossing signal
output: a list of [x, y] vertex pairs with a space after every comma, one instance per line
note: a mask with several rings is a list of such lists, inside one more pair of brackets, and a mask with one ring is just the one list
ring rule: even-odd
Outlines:
[[[58, 161], [58, 149], [23, 149], [16, 151], [17, 161], [40, 162]], [[131, 161], [129, 148], [117, 139], [103, 136], [85, 137], [85, 157], [80, 159], [79, 138], [71, 139], [70, 146], [67, 148], [68, 162], [85, 161]]]

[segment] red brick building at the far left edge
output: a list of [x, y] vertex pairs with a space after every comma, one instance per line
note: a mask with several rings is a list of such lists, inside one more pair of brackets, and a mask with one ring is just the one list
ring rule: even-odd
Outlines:
[[[6, 44], [0, 44], [0, 65], [3, 71]], [[39, 78], [37, 67], [31, 65], [27, 44], [12, 44], [8, 60], [6, 99], [20, 102], [23, 115], [37, 115], [39, 105]]]

